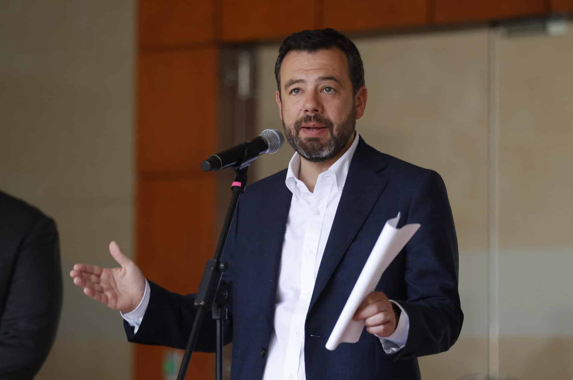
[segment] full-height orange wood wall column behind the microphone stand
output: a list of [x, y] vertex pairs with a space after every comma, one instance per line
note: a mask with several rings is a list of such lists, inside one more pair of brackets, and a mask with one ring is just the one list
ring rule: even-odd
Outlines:
[[[216, 180], [200, 169], [218, 142], [214, 4], [138, 2], [136, 257], [146, 277], [183, 294], [214, 251]], [[134, 345], [134, 378], [163, 378], [168, 350]], [[186, 378], [213, 373], [213, 355], [194, 353]]]

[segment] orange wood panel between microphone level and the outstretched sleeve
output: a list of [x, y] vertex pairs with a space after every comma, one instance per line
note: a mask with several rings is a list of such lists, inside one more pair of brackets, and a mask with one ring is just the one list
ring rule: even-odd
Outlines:
[[197, 292], [213, 258], [214, 173], [138, 181], [138, 263], [172, 292]]

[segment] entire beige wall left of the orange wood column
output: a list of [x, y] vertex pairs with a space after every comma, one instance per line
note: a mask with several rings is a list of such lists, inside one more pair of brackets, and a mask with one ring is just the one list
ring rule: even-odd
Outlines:
[[134, 13], [131, 1], [2, 3], [0, 189], [60, 231], [64, 305], [39, 380], [130, 378], [119, 313], [68, 273], [113, 265], [111, 239], [132, 254]]

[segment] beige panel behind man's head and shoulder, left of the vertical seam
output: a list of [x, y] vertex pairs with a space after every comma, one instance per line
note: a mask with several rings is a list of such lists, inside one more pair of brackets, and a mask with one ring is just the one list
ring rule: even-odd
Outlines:
[[[485, 29], [356, 39], [368, 106], [368, 144], [444, 177], [460, 246], [460, 343], [421, 360], [425, 379], [488, 369], [488, 36]], [[282, 129], [273, 75], [277, 45], [257, 50], [257, 129]], [[260, 179], [285, 168], [291, 148], [253, 164]], [[469, 350], [469, 351], [468, 351]], [[470, 356], [468, 356], [470, 355]], [[456, 363], [452, 365], [452, 363]]]

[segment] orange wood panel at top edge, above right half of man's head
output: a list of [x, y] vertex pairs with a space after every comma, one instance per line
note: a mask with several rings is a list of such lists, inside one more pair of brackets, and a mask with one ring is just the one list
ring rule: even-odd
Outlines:
[[375, 30], [426, 23], [427, 0], [329, 0], [321, 27], [341, 31]]

